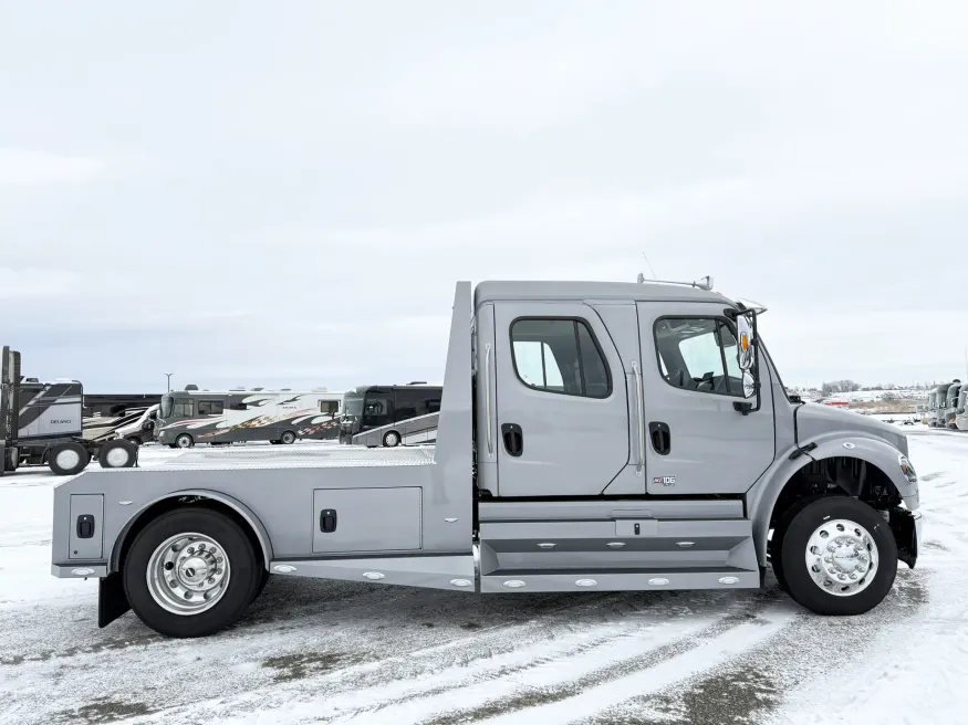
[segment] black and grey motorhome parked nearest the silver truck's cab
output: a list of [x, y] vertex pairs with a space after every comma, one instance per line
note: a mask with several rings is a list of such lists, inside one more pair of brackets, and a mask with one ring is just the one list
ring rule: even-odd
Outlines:
[[424, 382], [347, 390], [340, 442], [369, 448], [434, 443], [443, 391], [440, 386]]

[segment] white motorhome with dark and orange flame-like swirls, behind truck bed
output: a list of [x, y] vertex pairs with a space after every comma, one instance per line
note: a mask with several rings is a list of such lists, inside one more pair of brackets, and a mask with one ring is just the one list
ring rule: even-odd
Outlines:
[[339, 437], [343, 393], [325, 389], [185, 390], [162, 397], [158, 441], [170, 448], [197, 443], [228, 445], [252, 441], [294, 443]]

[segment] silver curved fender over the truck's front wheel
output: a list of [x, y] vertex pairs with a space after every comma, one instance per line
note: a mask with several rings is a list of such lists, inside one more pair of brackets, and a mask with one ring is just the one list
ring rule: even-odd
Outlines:
[[[790, 446], [777, 458], [763, 477], [747, 493], [747, 512], [752, 518], [753, 540], [761, 566], [767, 566], [767, 535], [773, 506], [777, 505], [777, 500], [787, 482], [810, 463], [811, 459], [820, 461], [846, 455], [865, 461], [881, 469], [891, 479], [909, 511], [916, 511], [920, 505], [918, 484], [910, 483], [901, 472], [897, 456], [902, 455], [902, 452], [886, 441], [866, 435], [831, 433], [801, 441], [801, 448], [811, 443], [815, 443], [816, 448], [808, 454], [797, 454], [797, 448]], [[790, 456], [794, 454], [795, 458], [791, 460]]]

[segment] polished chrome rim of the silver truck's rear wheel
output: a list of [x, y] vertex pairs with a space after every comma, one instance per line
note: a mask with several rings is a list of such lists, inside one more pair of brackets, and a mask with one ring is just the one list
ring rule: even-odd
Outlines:
[[173, 614], [199, 614], [215, 607], [231, 578], [221, 545], [202, 534], [177, 534], [148, 559], [148, 593]]

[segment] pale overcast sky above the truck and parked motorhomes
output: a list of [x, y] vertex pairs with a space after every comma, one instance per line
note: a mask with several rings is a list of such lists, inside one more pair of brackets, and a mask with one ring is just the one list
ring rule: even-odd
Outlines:
[[965, 376], [965, 3], [0, 0], [0, 342], [443, 378], [456, 280], [711, 274], [788, 383]]

